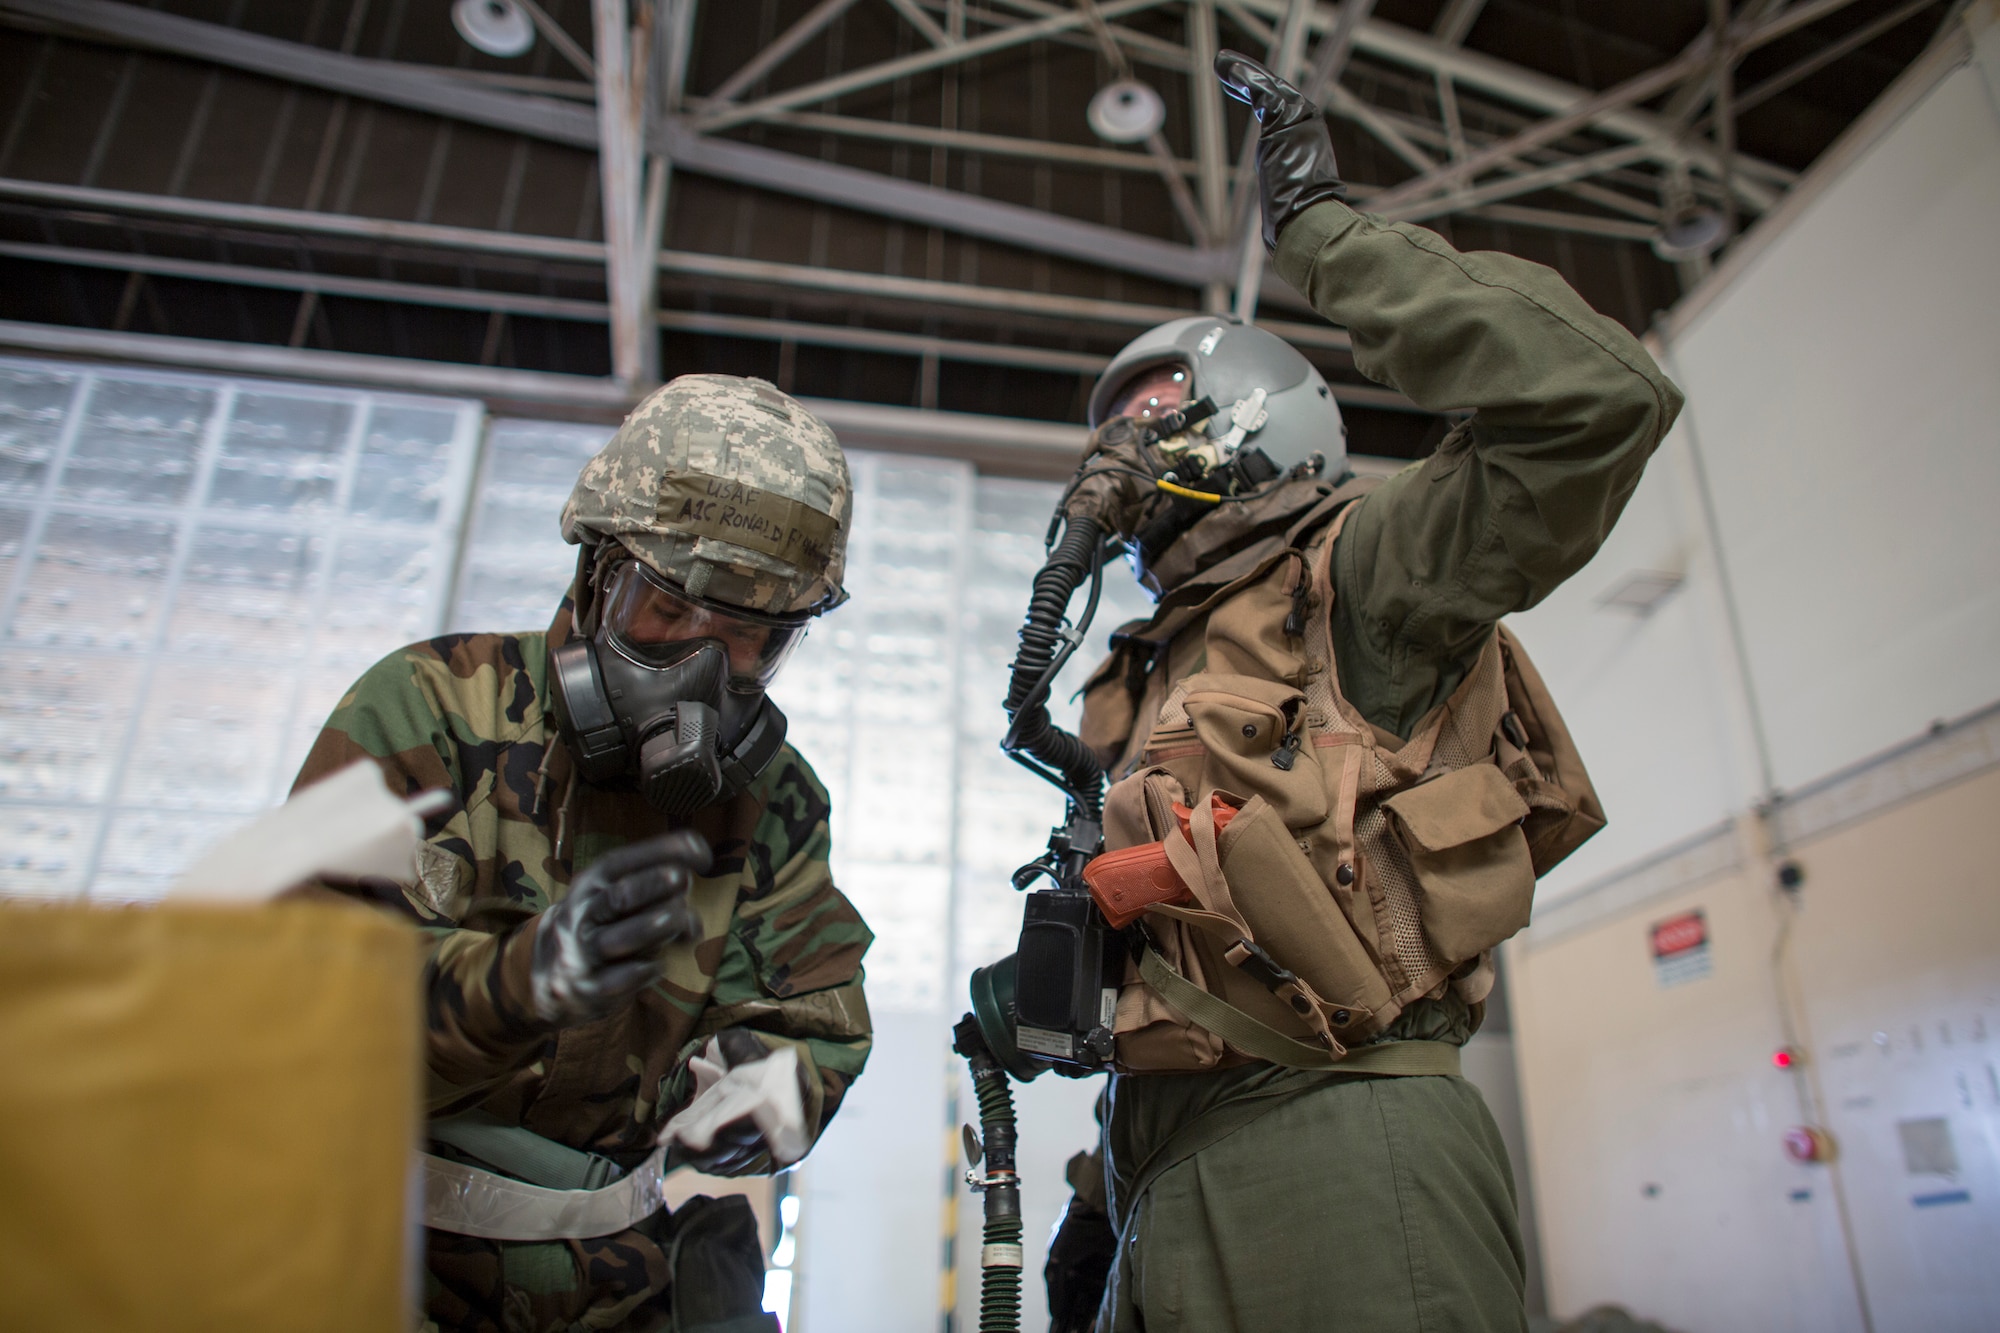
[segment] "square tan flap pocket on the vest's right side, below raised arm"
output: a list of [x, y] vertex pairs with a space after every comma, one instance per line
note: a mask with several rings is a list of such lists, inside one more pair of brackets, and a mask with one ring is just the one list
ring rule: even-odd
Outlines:
[[1528, 803], [1500, 769], [1456, 769], [1382, 807], [1424, 891], [1424, 935], [1446, 961], [1474, 959], [1528, 925], [1534, 865], [1520, 831]]

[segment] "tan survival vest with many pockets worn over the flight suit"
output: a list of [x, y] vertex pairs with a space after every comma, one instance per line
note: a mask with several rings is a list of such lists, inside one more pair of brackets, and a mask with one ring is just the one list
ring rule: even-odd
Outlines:
[[[1086, 687], [1082, 737], [1114, 779], [1106, 851], [1160, 841], [1192, 891], [1142, 919], [1114, 1023], [1124, 1071], [1336, 1067], [1418, 997], [1484, 1001], [1536, 877], [1604, 827], [1504, 626], [1408, 741], [1342, 699], [1332, 550], [1372, 486], [1326, 494], [1228, 582], [1176, 590]], [[1220, 835], [1214, 795], [1238, 807]]]

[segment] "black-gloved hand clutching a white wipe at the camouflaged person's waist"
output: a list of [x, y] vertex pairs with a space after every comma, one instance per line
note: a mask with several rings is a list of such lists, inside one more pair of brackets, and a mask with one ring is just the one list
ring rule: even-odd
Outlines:
[[694, 1167], [706, 1175], [742, 1175], [768, 1153], [786, 1167], [812, 1147], [806, 1139], [810, 1077], [798, 1049], [776, 1051], [744, 1027], [708, 1039], [708, 1049], [688, 1061], [694, 1099], [660, 1131], [668, 1145], [666, 1167]]

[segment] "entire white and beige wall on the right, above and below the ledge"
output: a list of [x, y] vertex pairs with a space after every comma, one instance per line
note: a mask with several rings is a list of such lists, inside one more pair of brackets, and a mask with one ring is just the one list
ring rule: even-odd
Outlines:
[[[1886, 94], [1872, 138], [1836, 148], [1682, 322], [1664, 358], [1682, 424], [1598, 560], [1522, 616], [1612, 815], [1544, 905], [2000, 697], [2000, 116], [1946, 60]], [[1650, 620], [1586, 610], [1676, 540], [1688, 582]], [[1744, 819], [1736, 853], [1574, 899], [1510, 945], [1554, 1315], [1994, 1325], [1982, 745], [1972, 723], [1854, 771]], [[1716, 787], [1690, 791], [1704, 773]], [[1796, 907], [1760, 829], [1792, 839]], [[1686, 909], [1712, 973], [1674, 979], [1650, 927]], [[1798, 1047], [1784, 1073], [1778, 1043]], [[1800, 1123], [1832, 1131], [1832, 1165], [1784, 1157]], [[1950, 1147], [1912, 1149], [1924, 1135]]]

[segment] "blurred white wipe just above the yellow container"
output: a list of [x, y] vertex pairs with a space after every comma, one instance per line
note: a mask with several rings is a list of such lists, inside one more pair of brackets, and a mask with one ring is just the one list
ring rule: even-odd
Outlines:
[[424, 837], [420, 809], [424, 797], [398, 801], [382, 771], [362, 759], [210, 847], [166, 897], [262, 903], [316, 875], [410, 883]]

